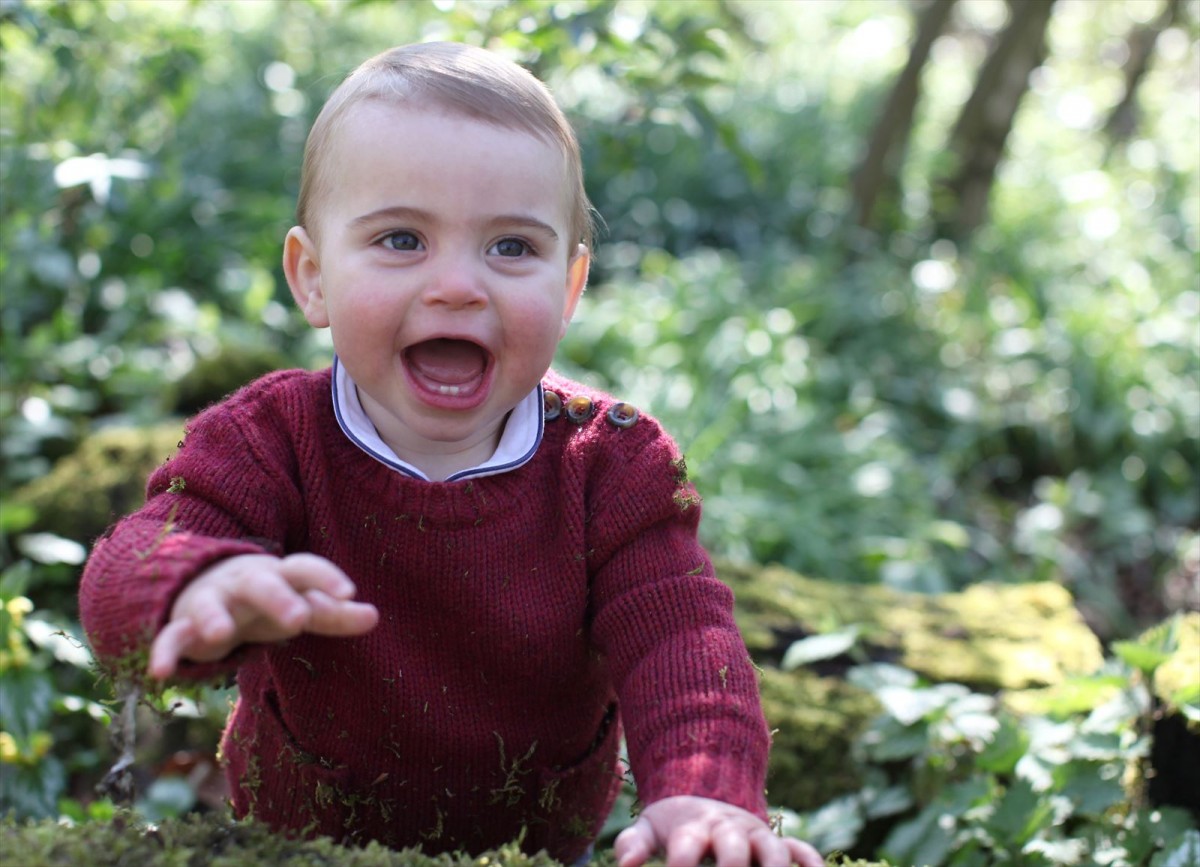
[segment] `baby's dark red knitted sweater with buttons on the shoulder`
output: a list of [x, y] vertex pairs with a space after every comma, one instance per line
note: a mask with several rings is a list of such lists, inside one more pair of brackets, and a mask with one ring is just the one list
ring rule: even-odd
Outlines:
[[[766, 814], [768, 734], [732, 594], [656, 421], [548, 373], [582, 423], [546, 423], [520, 468], [431, 483], [338, 427], [330, 372], [283, 371], [209, 408], [102, 538], [80, 587], [109, 665], [144, 650], [184, 585], [242, 552], [312, 551], [380, 612], [371, 633], [244, 646], [222, 739], [239, 815], [388, 845], [478, 851], [524, 829], [574, 860], [619, 788]], [[619, 708], [619, 713], [618, 713]]]

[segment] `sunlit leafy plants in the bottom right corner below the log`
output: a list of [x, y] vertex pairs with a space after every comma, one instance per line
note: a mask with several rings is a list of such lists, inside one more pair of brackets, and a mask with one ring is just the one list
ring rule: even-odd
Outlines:
[[[1200, 616], [1124, 642], [1118, 659], [1073, 680], [1069, 690], [1048, 690], [1042, 712], [1024, 714], [960, 683], [858, 665], [847, 680], [882, 707], [856, 745], [865, 784], [810, 813], [787, 814], [785, 827], [822, 849], [854, 850], [871, 825], [892, 818], [880, 854], [930, 867], [1188, 863], [1200, 851], [1196, 817], [1146, 801], [1159, 716], [1154, 674], [1178, 651], [1184, 628], [1200, 628]], [[842, 652], [805, 656], [814, 663]], [[1194, 689], [1194, 669], [1192, 676]], [[1196, 698], [1176, 706], [1194, 719]]]

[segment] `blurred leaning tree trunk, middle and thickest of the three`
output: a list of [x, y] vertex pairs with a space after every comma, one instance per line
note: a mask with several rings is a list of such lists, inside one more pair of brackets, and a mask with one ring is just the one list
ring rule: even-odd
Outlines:
[[935, 190], [941, 235], [966, 240], [988, 217], [988, 198], [1030, 73], [1045, 59], [1055, 0], [1009, 0], [1009, 24], [988, 56], [950, 133], [953, 177]]

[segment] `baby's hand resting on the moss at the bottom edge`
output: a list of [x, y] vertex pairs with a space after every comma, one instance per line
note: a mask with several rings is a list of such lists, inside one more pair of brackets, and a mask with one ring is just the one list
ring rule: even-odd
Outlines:
[[647, 806], [613, 844], [619, 867], [640, 867], [656, 851], [668, 867], [696, 867], [712, 855], [719, 867], [824, 867], [816, 849], [779, 837], [754, 813], [708, 797], [678, 795]]

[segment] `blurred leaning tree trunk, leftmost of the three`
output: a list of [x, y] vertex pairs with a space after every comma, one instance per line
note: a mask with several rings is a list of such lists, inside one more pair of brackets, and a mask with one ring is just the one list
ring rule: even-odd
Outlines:
[[854, 222], [863, 228], [872, 228], [877, 222], [875, 207], [880, 199], [895, 202], [899, 198], [899, 174], [920, 98], [920, 73], [953, 7], [954, 0], [931, 0], [922, 11], [908, 62], [888, 94], [883, 114], [871, 132], [866, 155], [854, 172]]

